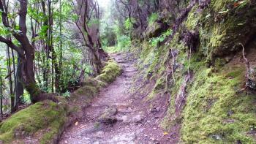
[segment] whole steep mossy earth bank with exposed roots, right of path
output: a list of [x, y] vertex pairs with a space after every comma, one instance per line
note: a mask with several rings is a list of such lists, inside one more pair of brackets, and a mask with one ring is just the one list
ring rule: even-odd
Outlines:
[[[167, 29], [172, 34], [158, 34], [165, 41], [156, 45], [159, 37], [145, 37], [134, 42], [131, 51], [140, 58], [139, 75], [145, 82], [140, 91], [151, 91], [152, 103], [168, 96], [162, 127], [172, 132], [178, 126], [181, 143], [256, 143], [255, 4], [185, 2]], [[243, 47], [252, 80], [246, 90]]]

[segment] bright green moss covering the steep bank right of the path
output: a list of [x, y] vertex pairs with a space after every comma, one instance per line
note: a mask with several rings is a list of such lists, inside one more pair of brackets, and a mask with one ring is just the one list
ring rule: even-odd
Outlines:
[[[198, 5], [189, 12], [183, 23], [187, 29], [198, 28], [199, 48], [189, 62], [187, 46], [181, 42], [181, 32], [174, 35], [168, 46], [153, 48], [143, 42], [138, 48], [140, 69], [151, 73], [150, 80], [157, 80], [148, 99], [163, 87], [167, 64], [172, 59], [168, 50], [176, 50], [174, 74], [176, 82], [169, 86], [170, 107], [162, 121], [162, 127], [170, 129], [182, 122], [181, 138], [184, 143], [256, 143], [252, 128], [255, 129], [256, 98], [253, 94], [237, 94], [244, 84], [244, 67], [230, 66], [223, 56], [230, 56], [240, 50], [240, 42], [246, 43], [255, 33], [255, 4], [244, 1], [233, 7], [236, 1], [213, 0], [211, 4], [198, 10]], [[227, 10], [228, 9], [228, 10]], [[183, 27], [181, 27], [183, 28]], [[207, 68], [206, 62], [212, 67]], [[184, 82], [184, 75], [190, 69], [193, 77], [187, 86], [187, 105], [181, 116], [176, 116], [175, 99]], [[146, 80], [146, 79], [145, 79]], [[147, 88], [145, 88], [147, 89]], [[181, 121], [181, 119], [183, 120]]]

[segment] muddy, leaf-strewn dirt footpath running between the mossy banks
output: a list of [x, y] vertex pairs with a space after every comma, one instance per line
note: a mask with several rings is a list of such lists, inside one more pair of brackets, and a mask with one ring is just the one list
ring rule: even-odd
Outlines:
[[152, 107], [144, 99], [146, 93], [132, 91], [135, 89], [132, 86], [143, 85], [140, 80], [135, 80], [138, 69], [132, 57], [124, 54], [111, 56], [123, 67], [123, 74], [108, 88], [102, 89], [85, 109], [83, 118], [64, 132], [59, 143], [177, 143], [176, 130], [167, 133], [159, 128], [167, 107], [159, 106], [161, 104]]

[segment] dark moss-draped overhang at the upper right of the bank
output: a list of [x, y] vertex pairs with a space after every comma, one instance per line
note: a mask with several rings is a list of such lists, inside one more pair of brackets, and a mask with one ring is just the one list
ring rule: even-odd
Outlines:
[[236, 52], [240, 43], [246, 43], [255, 33], [255, 4], [244, 1], [233, 7], [235, 2], [214, 0], [203, 10], [199, 29], [200, 51], [208, 56], [208, 61]]

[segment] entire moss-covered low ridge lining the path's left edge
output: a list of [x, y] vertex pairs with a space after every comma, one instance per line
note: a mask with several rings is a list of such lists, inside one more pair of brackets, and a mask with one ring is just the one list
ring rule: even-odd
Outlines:
[[[108, 64], [97, 78], [86, 78], [84, 86], [72, 94], [72, 99], [80, 99], [85, 96], [88, 102], [99, 93], [99, 88], [111, 83], [121, 74], [121, 67], [115, 61], [108, 61]], [[105, 81], [106, 83], [102, 82]], [[69, 96], [69, 92], [63, 94]], [[61, 99], [60, 99], [61, 100]], [[38, 102], [26, 109], [20, 110], [7, 120], [0, 124], [0, 140], [4, 143], [12, 143], [14, 140], [26, 136], [34, 136], [35, 133], [40, 136], [40, 143], [52, 143], [52, 140], [59, 136], [67, 121], [67, 107], [60, 101], [59, 105], [55, 102]]]

